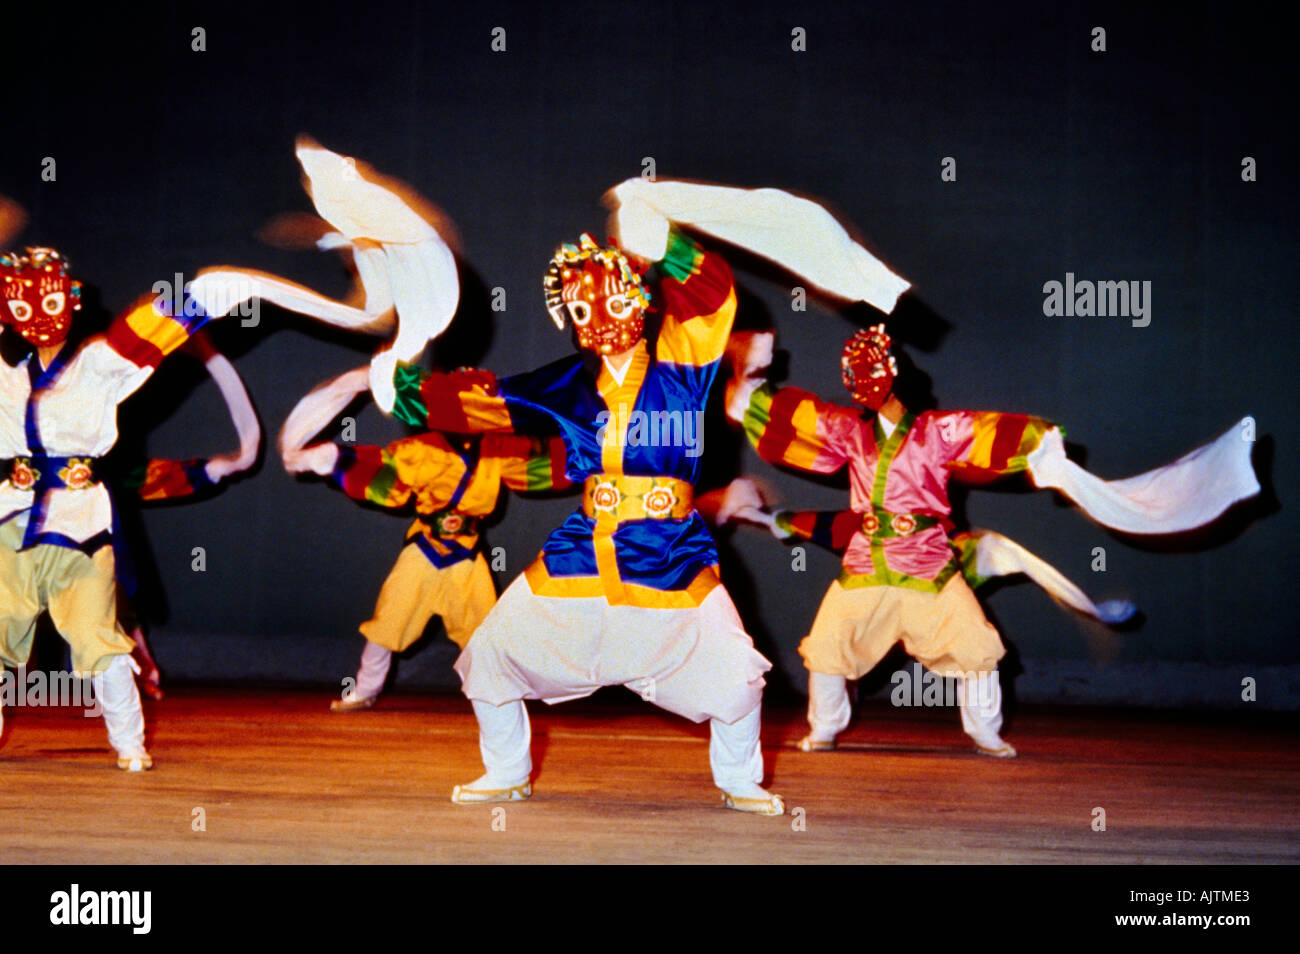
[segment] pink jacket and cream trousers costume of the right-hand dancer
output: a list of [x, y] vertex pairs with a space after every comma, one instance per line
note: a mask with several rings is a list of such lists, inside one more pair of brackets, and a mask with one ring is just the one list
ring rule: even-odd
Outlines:
[[1006, 650], [949, 545], [948, 478], [1023, 471], [1049, 425], [1024, 415], [924, 412], [905, 415], [887, 434], [879, 416], [863, 420], [855, 408], [770, 385], [754, 391], [744, 424], [771, 463], [814, 473], [848, 464], [861, 517], [844, 571], [800, 643], [812, 742], [829, 742], [848, 725], [844, 681], [870, 672], [901, 639], [922, 665], [966, 681], [971, 702], [984, 704], [963, 702], [963, 728], [982, 750], [1004, 750], [994, 741], [1002, 723], [996, 669]]

